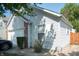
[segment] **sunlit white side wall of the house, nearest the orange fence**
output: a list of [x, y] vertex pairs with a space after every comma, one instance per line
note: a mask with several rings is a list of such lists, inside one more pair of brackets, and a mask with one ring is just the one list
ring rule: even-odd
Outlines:
[[58, 49], [61, 49], [63, 47], [66, 47], [70, 44], [70, 32], [72, 28], [64, 23], [62, 20], [60, 20], [60, 32], [59, 32], [59, 41], [58, 43]]

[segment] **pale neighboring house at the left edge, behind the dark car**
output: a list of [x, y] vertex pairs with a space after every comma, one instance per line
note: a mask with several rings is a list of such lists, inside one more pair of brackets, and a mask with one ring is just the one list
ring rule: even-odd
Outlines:
[[6, 24], [9, 17], [0, 17], [0, 40], [6, 39]]

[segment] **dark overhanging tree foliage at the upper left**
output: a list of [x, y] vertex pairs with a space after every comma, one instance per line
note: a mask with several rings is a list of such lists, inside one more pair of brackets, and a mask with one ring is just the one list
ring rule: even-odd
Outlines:
[[[7, 10], [11, 12], [11, 14], [19, 15], [22, 18], [26, 19], [23, 15], [28, 14], [32, 15], [33, 7], [32, 5], [36, 6], [37, 4], [30, 4], [30, 3], [0, 3], [0, 16], [5, 16]], [[27, 20], [27, 19], [26, 19]]]

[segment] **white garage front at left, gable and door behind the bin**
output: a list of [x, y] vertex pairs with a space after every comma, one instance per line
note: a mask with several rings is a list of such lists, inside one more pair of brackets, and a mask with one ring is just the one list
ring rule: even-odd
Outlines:
[[17, 45], [16, 37], [24, 36], [24, 21], [21, 19], [14, 16], [8, 26], [8, 40], [11, 40], [14, 46]]

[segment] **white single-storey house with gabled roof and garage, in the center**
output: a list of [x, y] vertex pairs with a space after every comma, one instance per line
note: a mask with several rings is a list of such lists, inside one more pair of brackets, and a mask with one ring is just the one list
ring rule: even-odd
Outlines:
[[26, 37], [27, 48], [33, 47], [35, 40], [44, 40], [43, 48], [61, 49], [70, 44], [73, 27], [59, 13], [34, 7], [34, 16], [11, 16], [7, 22], [7, 39], [17, 46], [16, 37]]

